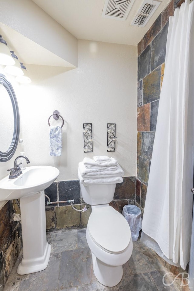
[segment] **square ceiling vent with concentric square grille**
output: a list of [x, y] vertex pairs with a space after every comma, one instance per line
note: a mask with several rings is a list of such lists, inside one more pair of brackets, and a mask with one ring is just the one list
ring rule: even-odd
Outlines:
[[125, 20], [135, 0], [106, 0], [102, 17]]

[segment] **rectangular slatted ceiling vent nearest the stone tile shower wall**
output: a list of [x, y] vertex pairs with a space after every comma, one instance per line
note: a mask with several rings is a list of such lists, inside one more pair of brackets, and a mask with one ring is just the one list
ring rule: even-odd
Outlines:
[[145, 26], [160, 3], [160, 1], [156, 0], [145, 0], [139, 8], [131, 25]]

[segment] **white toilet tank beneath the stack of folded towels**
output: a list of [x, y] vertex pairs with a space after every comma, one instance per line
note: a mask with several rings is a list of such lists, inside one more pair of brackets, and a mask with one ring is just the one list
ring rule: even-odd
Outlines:
[[92, 184], [84, 186], [80, 183], [81, 196], [90, 205], [107, 204], [113, 200], [116, 184]]

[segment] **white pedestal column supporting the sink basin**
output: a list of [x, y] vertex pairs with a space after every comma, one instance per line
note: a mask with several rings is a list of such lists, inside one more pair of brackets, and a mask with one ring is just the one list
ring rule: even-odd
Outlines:
[[20, 198], [22, 218], [23, 259], [19, 264], [19, 275], [46, 269], [51, 245], [46, 241], [46, 215], [44, 190]]

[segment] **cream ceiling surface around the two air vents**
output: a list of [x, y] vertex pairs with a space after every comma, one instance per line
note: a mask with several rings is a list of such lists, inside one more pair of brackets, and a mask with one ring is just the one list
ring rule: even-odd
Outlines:
[[102, 17], [105, 0], [33, 0], [78, 39], [137, 45], [170, 0], [160, 0], [145, 27], [132, 26], [143, 0], [135, 0], [126, 20]]

